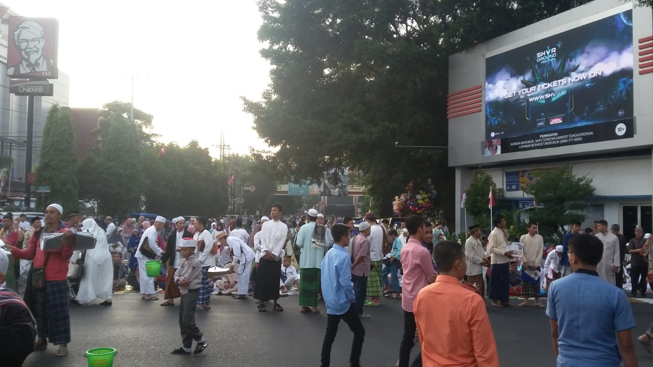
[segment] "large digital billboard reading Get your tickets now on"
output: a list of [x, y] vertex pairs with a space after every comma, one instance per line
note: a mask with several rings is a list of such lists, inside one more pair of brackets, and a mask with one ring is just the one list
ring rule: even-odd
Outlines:
[[633, 137], [632, 10], [487, 57], [484, 155]]

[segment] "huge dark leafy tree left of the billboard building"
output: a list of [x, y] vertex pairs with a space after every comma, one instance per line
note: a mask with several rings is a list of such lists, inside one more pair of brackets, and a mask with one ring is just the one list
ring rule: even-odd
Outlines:
[[448, 56], [588, 1], [261, 0], [261, 55], [272, 64], [261, 101], [244, 99], [279, 180], [318, 182], [343, 167], [377, 215], [410, 180], [436, 186], [451, 222]]

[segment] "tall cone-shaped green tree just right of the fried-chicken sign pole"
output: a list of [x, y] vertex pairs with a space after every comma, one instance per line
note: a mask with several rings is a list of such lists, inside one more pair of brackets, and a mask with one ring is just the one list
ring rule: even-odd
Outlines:
[[65, 211], [77, 210], [75, 131], [71, 114], [57, 104], [50, 108], [43, 129], [43, 143], [35, 183], [50, 187], [37, 195], [37, 208], [56, 202]]

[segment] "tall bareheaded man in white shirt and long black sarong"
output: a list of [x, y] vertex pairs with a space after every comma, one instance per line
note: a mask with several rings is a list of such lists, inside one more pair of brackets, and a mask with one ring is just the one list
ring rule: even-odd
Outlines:
[[254, 298], [260, 300], [259, 311], [265, 311], [265, 302], [273, 300], [276, 311], [283, 311], [279, 299], [279, 279], [281, 279], [281, 259], [288, 238], [288, 226], [281, 221], [281, 205], [270, 209], [270, 220], [261, 227], [261, 259], [257, 270]]

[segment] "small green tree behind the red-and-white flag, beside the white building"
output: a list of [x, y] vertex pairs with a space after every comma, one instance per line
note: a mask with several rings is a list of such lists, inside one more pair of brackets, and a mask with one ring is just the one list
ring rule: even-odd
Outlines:
[[[496, 183], [484, 170], [477, 170], [473, 173], [470, 187], [466, 190], [465, 208], [476, 220], [476, 224], [481, 228], [490, 228], [492, 218], [490, 218], [490, 187], [496, 197]], [[498, 212], [497, 212], [498, 214]]]

